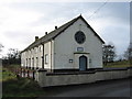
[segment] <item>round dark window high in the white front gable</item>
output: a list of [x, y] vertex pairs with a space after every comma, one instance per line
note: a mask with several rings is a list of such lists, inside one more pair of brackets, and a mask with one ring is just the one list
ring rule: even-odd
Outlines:
[[78, 31], [76, 32], [75, 34], [75, 41], [78, 43], [78, 44], [82, 44], [86, 40], [86, 35], [84, 34], [84, 32], [81, 31]]

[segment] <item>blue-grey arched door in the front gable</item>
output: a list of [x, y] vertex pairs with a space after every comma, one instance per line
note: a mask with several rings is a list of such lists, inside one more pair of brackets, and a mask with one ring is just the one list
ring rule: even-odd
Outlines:
[[80, 56], [79, 57], [79, 70], [86, 70], [87, 69], [87, 57]]

